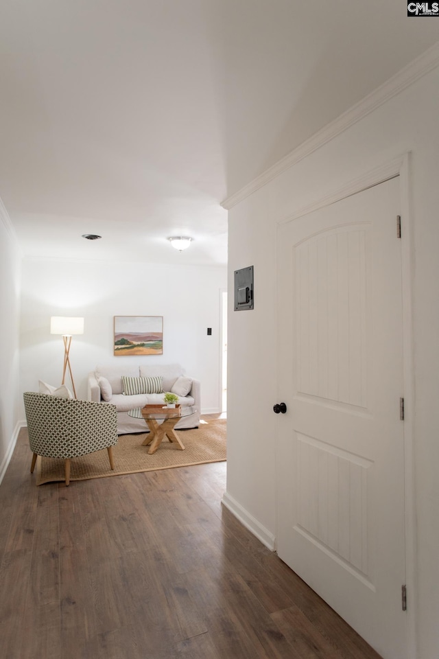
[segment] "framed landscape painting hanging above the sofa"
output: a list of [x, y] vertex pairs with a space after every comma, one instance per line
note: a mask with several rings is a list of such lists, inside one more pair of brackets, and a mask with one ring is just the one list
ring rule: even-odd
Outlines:
[[163, 355], [163, 316], [115, 316], [119, 355]]

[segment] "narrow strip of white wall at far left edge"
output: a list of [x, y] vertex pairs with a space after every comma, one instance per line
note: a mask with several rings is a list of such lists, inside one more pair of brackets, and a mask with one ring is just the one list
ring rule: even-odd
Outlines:
[[14, 231], [0, 200], [0, 482], [19, 429], [20, 262]]

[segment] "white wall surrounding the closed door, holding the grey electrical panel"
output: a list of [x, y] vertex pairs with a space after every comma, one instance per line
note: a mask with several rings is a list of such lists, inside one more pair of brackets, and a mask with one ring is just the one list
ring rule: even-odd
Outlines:
[[[439, 70], [359, 119], [229, 213], [226, 500], [276, 534], [276, 224], [411, 152], [414, 227], [416, 607], [418, 658], [439, 656]], [[404, 218], [403, 218], [404, 221]], [[254, 310], [233, 312], [233, 271], [254, 265]], [[278, 402], [278, 401], [277, 401]], [[274, 424], [274, 426], [273, 426]], [[283, 505], [283, 502], [278, 502]], [[415, 658], [414, 658], [415, 659]]]

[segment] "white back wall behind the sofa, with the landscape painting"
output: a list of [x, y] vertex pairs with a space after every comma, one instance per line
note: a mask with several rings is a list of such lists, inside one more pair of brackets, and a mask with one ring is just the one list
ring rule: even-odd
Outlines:
[[[50, 334], [50, 316], [84, 316], [84, 334], [73, 336], [70, 350], [78, 397], [86, 398], [87, 373], [98, 364], [178, 362], [201, 381], [202, 412], [219, 411], [222, 288], [225, 266], [25, 259], [21, 391], [37, 391], [38, 380], [60, 384], [64, 347]], [[163, 355], [115, 357], [113, 316], [163, 316]]]

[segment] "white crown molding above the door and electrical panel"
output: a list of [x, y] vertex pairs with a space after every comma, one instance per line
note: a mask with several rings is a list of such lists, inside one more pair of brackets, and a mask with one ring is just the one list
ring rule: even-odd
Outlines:
[[293, 165], [296, 165], [302, 159], [309, 156], [309, 154], [318, 150], [331, 139], [340, 135], [344, 130], [359, 122], [360, 119], [366, 117], [368, 114], [379, 108], [379, 106], [388, 102], [388, 100], [401, 93], [406, 87], [425, 76], [429, 71], [436, 69], [438, 66], [439, 41], [425, 51], [425, 53], [418, 56], [410, 62], [410, 64], [401, 69], [401, 71], [392, 76], [392, 78], [381, 84], [361, 101], [346, 110], [346, 112], [342, 113], [337, 119], [334, 119], [333, 122], [330, 122], [327, 126], [318, 130], [318, 132], [312, 137], [305, 140], [300, 146], [289, 152], [289, 154], [283, 159], [272, 165], [272, 167], [269, 167], [268, 170], [265, 170], [263, 174], [254, 178], [253, 181], [250, 181], [250, 183], [242, 187], [238, 192], [235, 192], [235, 194], [224, 199], [221, 203], [222, 207], [226, 210], [230, 210], [250, 194], [257, 192], [258, 189], [267, 183], [270, 183], [273, 178], [276, 178], [279, 174], [283, 174], [283, 172], [289, 170], [290, 167], [293, 167]]

